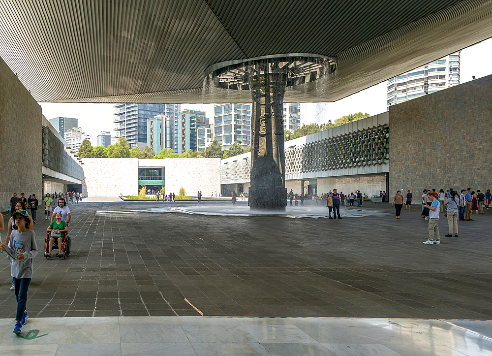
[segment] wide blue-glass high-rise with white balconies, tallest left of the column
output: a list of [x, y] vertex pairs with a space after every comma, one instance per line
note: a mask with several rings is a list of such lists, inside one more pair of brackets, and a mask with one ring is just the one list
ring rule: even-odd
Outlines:
[[147, 145], [147, 119], [156, 115], [176, 118], [180, 104], [116, 104], [115, 113], [117, 124], [115, 130], [118, 136], [124, 136], [130, 148], [138, 147], [144, 150]]

